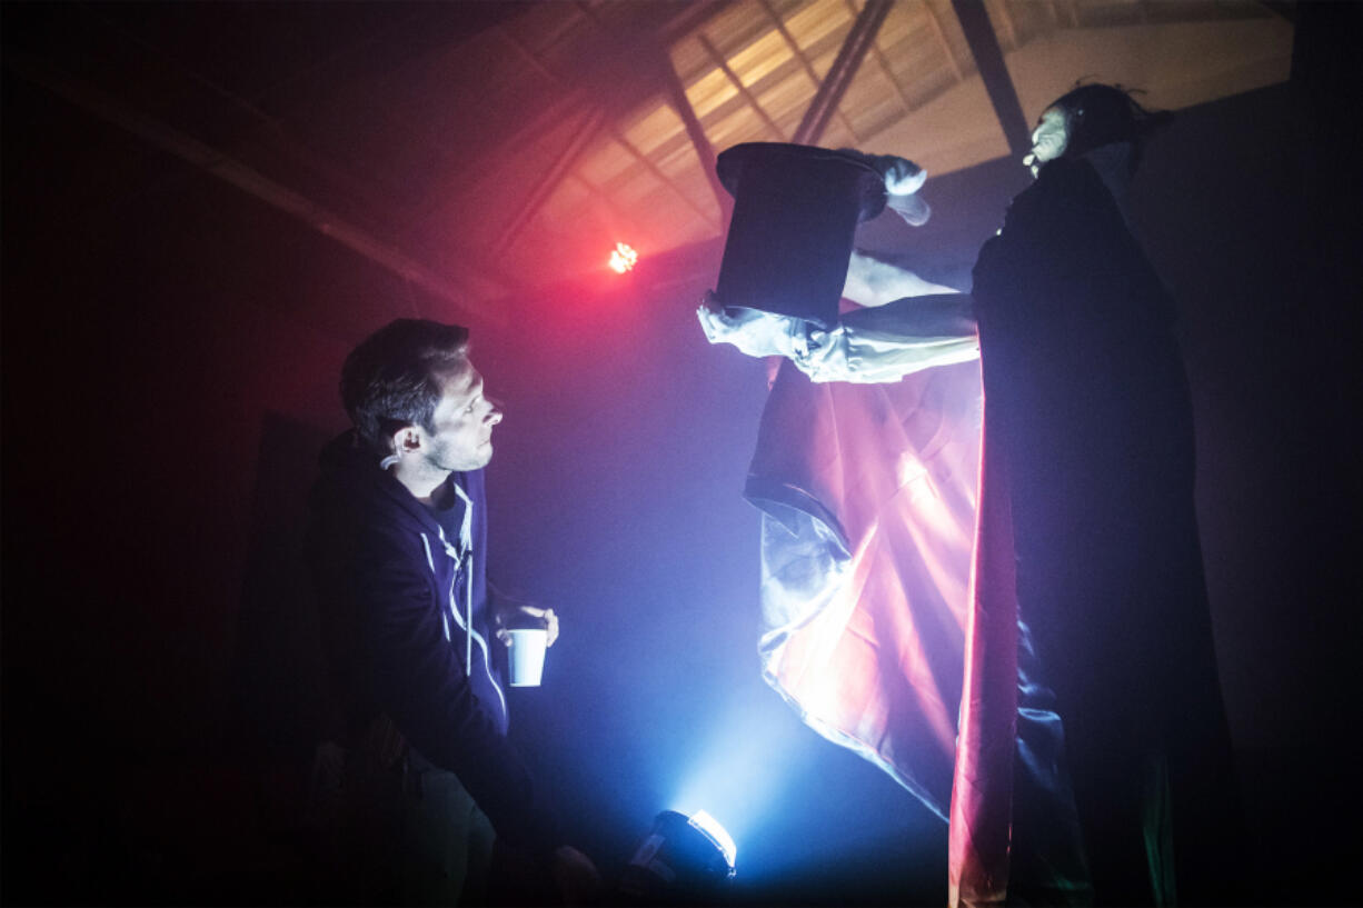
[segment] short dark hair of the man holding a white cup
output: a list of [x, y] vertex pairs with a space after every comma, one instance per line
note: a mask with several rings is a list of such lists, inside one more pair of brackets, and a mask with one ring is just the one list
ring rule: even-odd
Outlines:
[[469, 329], [397, 319], [361, 341], [341, 367], [341, 402], [360, 439], [379, 451], [406, 425], [435, 431], [439, 379], [469, 368]]

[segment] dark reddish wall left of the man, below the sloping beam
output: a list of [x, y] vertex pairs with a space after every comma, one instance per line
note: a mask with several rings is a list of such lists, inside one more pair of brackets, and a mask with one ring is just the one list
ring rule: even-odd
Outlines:
[[135, 898], [119, 875], [251, 843], [224, 728], [247, 570], [290, 504], [260, 489], [281, 427], [338, 424], [335, 364], [394, 299], [5, 74], [7, 896]]

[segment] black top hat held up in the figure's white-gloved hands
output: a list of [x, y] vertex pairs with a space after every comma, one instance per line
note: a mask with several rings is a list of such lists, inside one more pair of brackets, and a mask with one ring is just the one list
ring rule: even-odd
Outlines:
[[837, 324], [856, 225], [885, 209], [885, 177], [855, 151], [777, 142], [725, 150], [716, 173], [733, 196], [720, 304]]

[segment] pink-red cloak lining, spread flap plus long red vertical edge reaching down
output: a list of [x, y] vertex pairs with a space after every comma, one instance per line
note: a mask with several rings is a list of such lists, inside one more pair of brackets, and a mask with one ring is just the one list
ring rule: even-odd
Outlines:
[[1014, 784], [1044, 818], [1022, 873], [1074, 904], [1063, 731], [1018, 623], [1006, 461], [981, 417], [973, 361], [887, 384], [782, 364], [746, 488], [762, 510], [762, 669], [806, 724], [950, 818], [953, 904], [1003, 901]]

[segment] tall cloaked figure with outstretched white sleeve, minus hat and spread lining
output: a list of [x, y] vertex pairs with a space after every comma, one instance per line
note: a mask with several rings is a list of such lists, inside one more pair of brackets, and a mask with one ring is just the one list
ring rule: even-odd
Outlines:
[[904, 299], [831, 329], [702, 307], [711, 341], [782, 354], [834, 383], [957, 368], [949, 352], [976, 341], [977, 320], [984, 440], [953, 904], [1236, 897], [1242, 830], [1194, 513], [1191, 405], [1172, 301], [1124, 207], [1144, 142], [1165, 117], [1101, 85], [1050, 105], [1026, 161], [1036, 181], [981, 248], [970, 294]]

